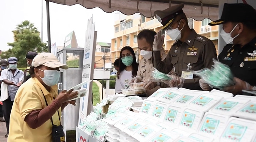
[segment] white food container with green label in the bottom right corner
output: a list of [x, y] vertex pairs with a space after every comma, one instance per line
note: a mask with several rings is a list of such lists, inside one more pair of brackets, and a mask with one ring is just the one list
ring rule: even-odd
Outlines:
[[256, 121], [231, 117], [223, 131], [221, 142], [251, 142], [256, 133]]

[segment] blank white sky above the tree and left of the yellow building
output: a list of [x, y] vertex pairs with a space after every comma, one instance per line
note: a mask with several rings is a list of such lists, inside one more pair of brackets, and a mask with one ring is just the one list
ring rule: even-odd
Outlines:
[[[0, 5], [0, 50], [10, 48], [12, 30], [24, 20], [35, 24], [41, 32], [41, 0], [1, 0]], [[114, 13], [105, 13], [100, 8], [86, 9], [81, 5], [65, 6], [50, 2], [51, 43], [62, 46], [65, 36], [75, 31], [78, 46], [84, 47], [87, 21], [93, 14], [96, 23], [97, 42], [111, 43], [114, 37]], [[47, 41], [46, 2], [43, 1], [43, 41]]]

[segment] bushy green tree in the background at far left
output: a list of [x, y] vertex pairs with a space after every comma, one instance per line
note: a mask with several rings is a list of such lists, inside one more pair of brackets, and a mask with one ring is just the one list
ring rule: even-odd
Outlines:
[[46, 43], [41, 43], [40, 32], [28, 20], [17, 25], [12, 31], [14, 42], [7, 43], [12, 46], [11, 49], [2, 52], [1, 58], [8, 59], [9, 57], [18, 58], [18, 67], [26, 67], [26, 53], [28, 51], [47, 52]]

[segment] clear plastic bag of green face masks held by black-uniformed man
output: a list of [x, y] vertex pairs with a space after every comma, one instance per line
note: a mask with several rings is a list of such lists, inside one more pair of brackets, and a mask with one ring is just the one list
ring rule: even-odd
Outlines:
[[215, 59], [213, 59], [213, 63], [214, 65], [211, 69], [204, 68], [192, 73], [201, 77], [212, 88], [223, 89], [225, 86], [234, 85], [234, 76], [230, 68]]

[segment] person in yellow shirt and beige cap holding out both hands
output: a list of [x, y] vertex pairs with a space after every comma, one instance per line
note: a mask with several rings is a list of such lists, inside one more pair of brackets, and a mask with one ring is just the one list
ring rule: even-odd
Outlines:
[[[14, 99], [8, 142], [65, 141], [61, 111], [77, 92], [62, 91], [58, 95], [59, 68], [68, 69], [52, 53], [41, 53], [32, 61], [32, 78], [20, 86]], [[57, 133], [55, 133], [57, 131]]]

